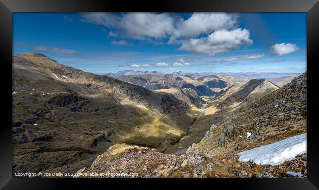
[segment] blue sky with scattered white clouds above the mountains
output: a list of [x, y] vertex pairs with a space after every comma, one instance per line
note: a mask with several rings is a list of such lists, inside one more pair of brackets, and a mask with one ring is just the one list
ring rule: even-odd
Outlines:
[[306, 13], [14, 13], [13, 53], [83, 71], [306, 71]]

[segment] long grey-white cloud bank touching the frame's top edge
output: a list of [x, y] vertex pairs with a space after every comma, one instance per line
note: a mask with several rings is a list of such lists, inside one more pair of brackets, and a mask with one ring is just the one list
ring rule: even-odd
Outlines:
[[195, 37], [214, 30], [232, 29], [238, 16], [227, 13], [194, 13], [187, 20], [167, 13], [86, 13], [80, 21], [120, 30], [133, 39]]

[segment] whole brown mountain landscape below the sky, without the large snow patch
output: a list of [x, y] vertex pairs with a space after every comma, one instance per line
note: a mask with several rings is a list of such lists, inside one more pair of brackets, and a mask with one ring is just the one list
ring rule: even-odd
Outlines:
[[281, 167], [237, 156], [306, 133], [306, 73], [296, 76], [94, 74], [40, 53], [16, 54], [13, 172], [78, 171], [79, 177], [134, 168], [142, 177], [306, 174], [305, 154]]

